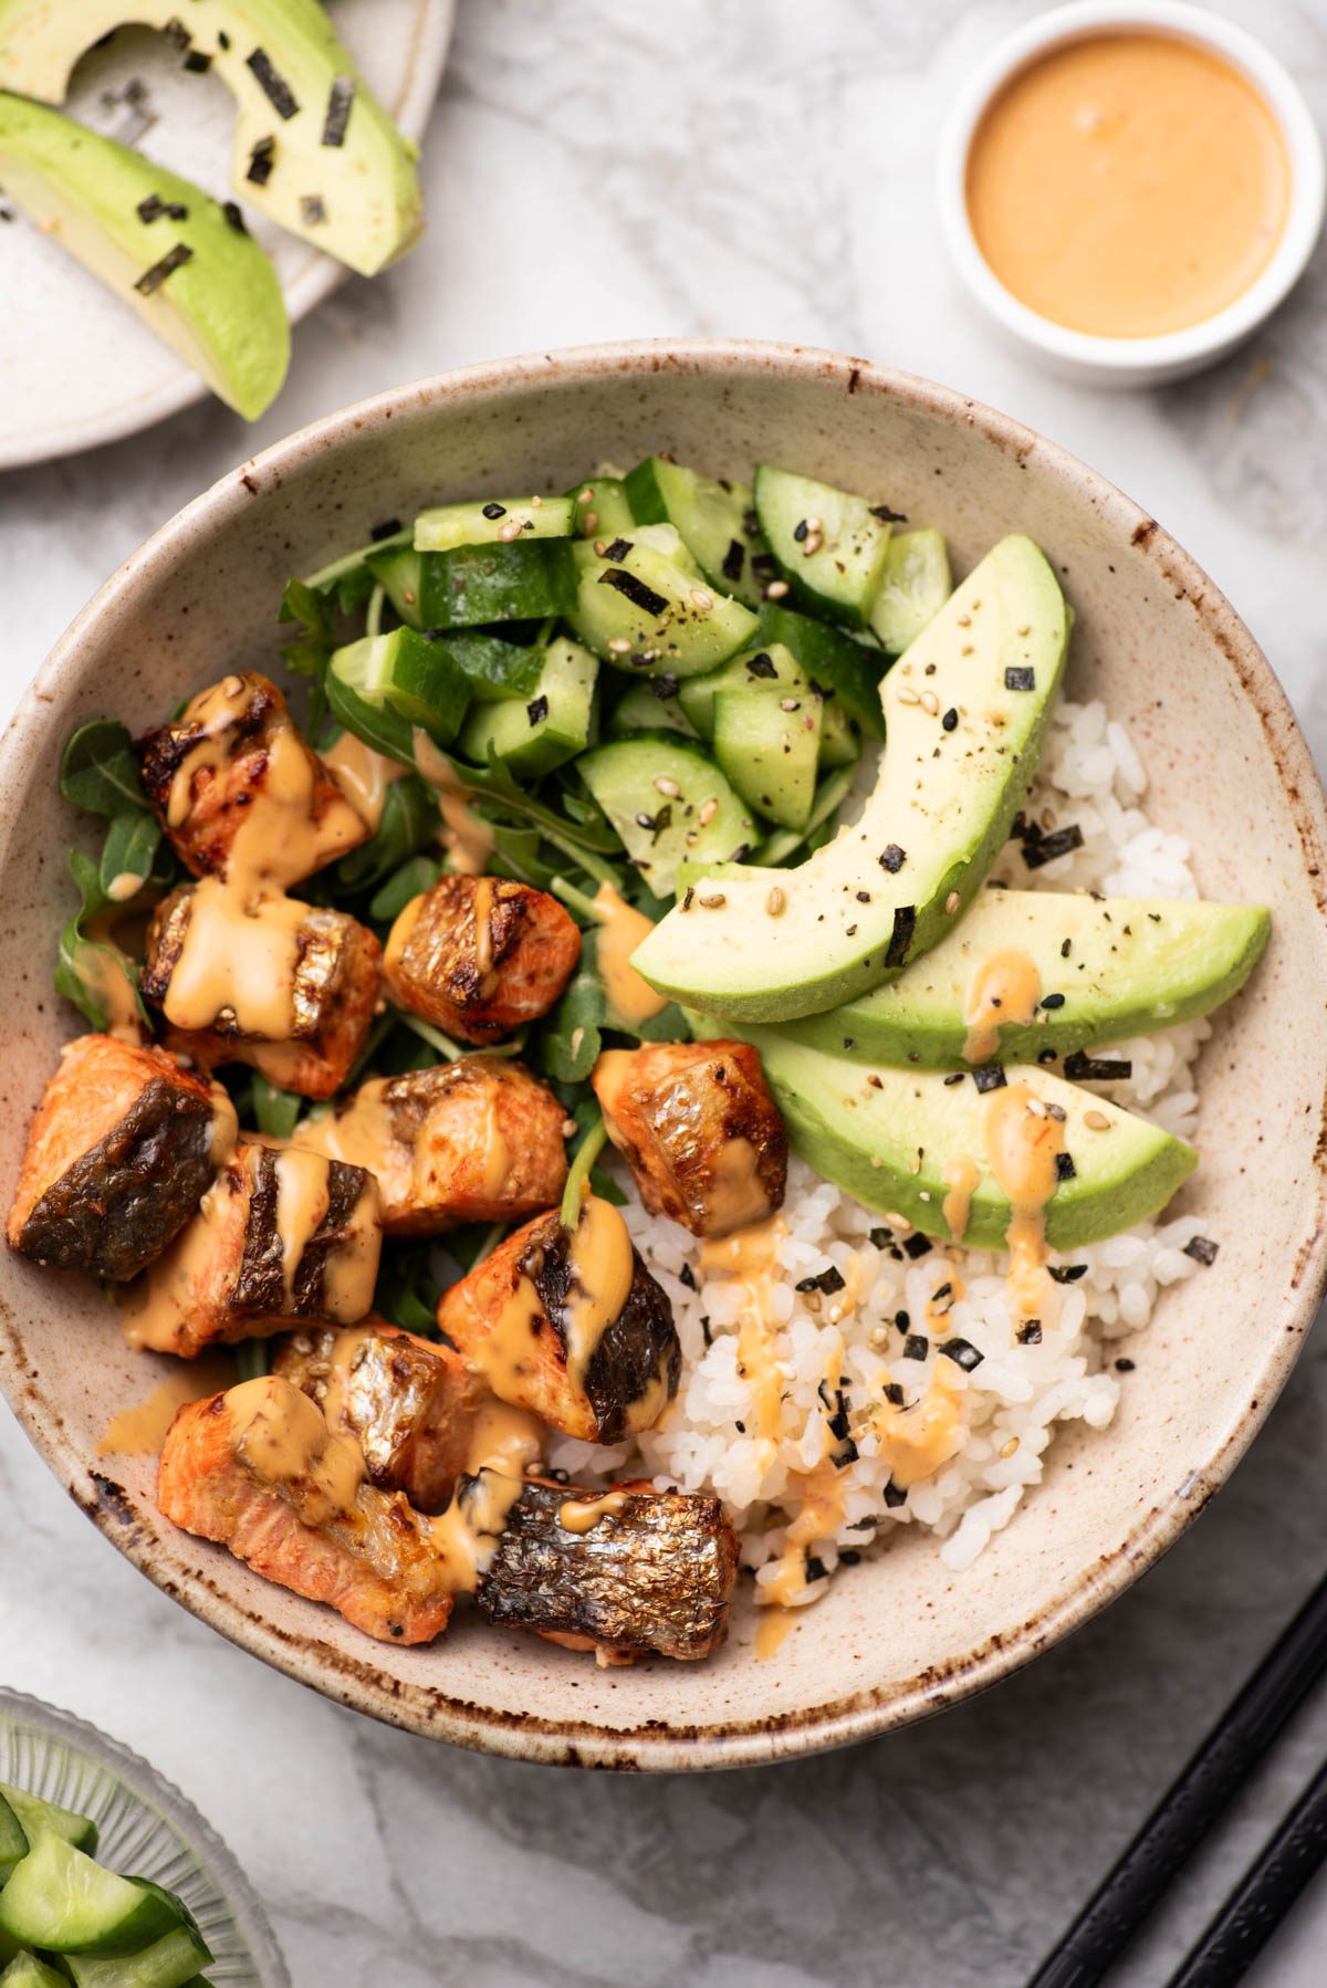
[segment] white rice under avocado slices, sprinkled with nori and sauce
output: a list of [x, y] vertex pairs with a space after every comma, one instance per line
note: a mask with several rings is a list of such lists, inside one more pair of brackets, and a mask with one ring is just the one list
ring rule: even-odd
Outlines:
[[[1140, 805], [1144, 793], [1142, 761], [1104, 706], [1060, 704], [1027, 815], [1044, 829], [1076, 823], [1082, 847], [1029, 871], [1019, 845], [1011, 843], [995, 877], [1023, 889], [1196, 897], [1188, 845], [1148, 821]], [[1118, 1044], [1116, 1054], [1132, 1060], [1132, 1076], [1102, 1089], [1190, 1137], [1198, 1111], [1194, 1062], [1208, 1032], [1206, 1022], [1190, 1022]], [[941, 1559], [955, 1573], [971, 1567], [991, 1535], [1009, 1525], [1027, 1489], [1039, 1483], [1056, 1429], [1066, 1421], [1104, 1429], [1112, 1421], [1124, 1386], [1112, 1368], [1112, 1342], [1148, 1324], [1158, 1290], [1198, 1270], [1184, 1246], [1202, 1231], [1192, 1215], [1140, 1223], [1058, 1258], [1086, 1264], [1086, 1274], [1058, 1286], [1058, 1324], [1046, 1328], [1041, 1344], [1023, 1346], [1005, 1302], [1007, 1258], [953, 1244], [935, 1244], [915, 1260], [877, 1248], [869, 1231], [881, 1233], [881, 1217], [794, 1159], [768, 1320], [770, 1354], [784, 1376], [782, 1419], [778, 1441], [762, 1443], [742, 1429], [742, 1423], [748, 1431], [754, 1427], [756, 1413], [752, 1382], [738, 1374], [742, 1280], [702, 1274], [696, 1237], [647, 1215], [635, 1195], [625, 1217], [672, 1300], [682, 1342], [678, 1400], [664, 1427], [641, 1437], [639, 1445], [601, 1449], [561, 1441], [551, 1461], [577, 1481], [645, 1471], [661, 1483], [718, 1493], [742, 1533], [742, 1561], [756, 1569], [756, 1584], [766, 1588], [776, 1580], [776, 1559], [798, 1517], [806, 1473], [826, 1453], [826, 1406], [818, 1396], [826, 1376], [830, 1388], [844, 1388], [850, 1411], [877, 1402], [887, 1380], [905, 1380], [911, 1402], [931, 1376], [937, 1342], [925, 1360], [901, 1358], [903, 1336], [893, 1326], [899, 1312], [923, 1322], [931, 1294], [961, 1268], [961, 1296], [947, 1314], [945, 1332], [969, 1340], [983, 1356], [971, 1374], [947, 1362], [963, 1390], [967, 1435], [957, 1455], [909, 1489], [905, 1503], [887, 1507], [889, 1461], [879, 1455], [877, 1437], [857, 1433], [853, 1419], [857, 1459], [836, 1483], [844, 1499], [842, 1523], [832, 1537], [810, 1543], [826, 1574], [838, 1567], [840, 1553], [861, 1553], [899, 1525], [933, 1531]], [[830, 1264], [842, 1272], [844, 1292], [822, 1296], [794, 1288]], [[684, 1268], [694, 1288], [682, 1282]], [[879, 1352], [871, 1350], [871, 1336]], [[812, 1578], [782, 1598], [814, 1602], [828, 1586], [828, 1578]]]

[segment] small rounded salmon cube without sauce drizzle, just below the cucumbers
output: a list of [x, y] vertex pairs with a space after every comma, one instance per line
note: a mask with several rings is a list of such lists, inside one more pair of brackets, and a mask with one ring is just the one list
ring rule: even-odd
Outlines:
[[497, 1042], [547, 1014], [581, 958], [555, 897], [505, 877], [440, 877], [398, 916], [382, 962], [392, 1000], [458, 1042]]

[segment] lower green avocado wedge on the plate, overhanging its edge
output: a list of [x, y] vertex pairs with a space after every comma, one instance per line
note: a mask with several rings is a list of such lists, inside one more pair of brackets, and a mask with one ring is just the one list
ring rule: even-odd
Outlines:
[[127, 145], [4, 91], [0, 187], [257, 421], [286, 376], [290, 324], [239, 217]]

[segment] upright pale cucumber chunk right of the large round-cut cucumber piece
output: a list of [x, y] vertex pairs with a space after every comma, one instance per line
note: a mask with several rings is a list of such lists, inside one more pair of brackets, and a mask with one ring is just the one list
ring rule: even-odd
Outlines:
[[718, 672], [714, 757], [766, 821], [802, 829], [816, 797], [824, 700], [786, 648], [760, 648]]

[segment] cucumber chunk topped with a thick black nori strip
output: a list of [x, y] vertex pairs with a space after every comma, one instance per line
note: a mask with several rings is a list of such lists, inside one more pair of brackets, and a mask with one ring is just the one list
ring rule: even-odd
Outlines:
[[603, 557], [595, 545], [581, 541], [573, 551], [577, 590], [567, 618], [615, 668], [692, 676], [754, 638], [756, 616], [706, 584], [670, 525], [619, 533]]

